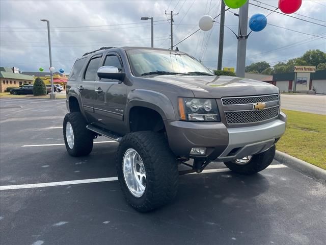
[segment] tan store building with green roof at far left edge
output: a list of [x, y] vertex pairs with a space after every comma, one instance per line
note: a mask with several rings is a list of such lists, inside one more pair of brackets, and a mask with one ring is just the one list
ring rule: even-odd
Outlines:
[[19, 74], [15, 67], [0, 67], [0, 92], [8, 87], [19, 87], [24, 84], [33, 84], [33, 77]]

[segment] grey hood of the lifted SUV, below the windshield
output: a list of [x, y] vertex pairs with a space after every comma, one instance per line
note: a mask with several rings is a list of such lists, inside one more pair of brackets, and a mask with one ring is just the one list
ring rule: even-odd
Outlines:
[[221, 99], [226, 96], [246, 96], [279, 93], [278, 87], [252, 79], [228, 76], [153, 76], [154, 81], [191, 89], [198, 98]]

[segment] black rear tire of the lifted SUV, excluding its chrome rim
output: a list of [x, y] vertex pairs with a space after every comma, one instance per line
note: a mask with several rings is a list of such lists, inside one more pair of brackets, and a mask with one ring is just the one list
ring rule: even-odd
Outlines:
[[[74, 135], [73, 148], [70, 149], [66, 137], [66, 125], [70, 122]], [[80, 112], [66, 114], [63, 120], [63, 136], [67, 152], [70, 156], [80, 157], [87, 156], [93, 149], [94, 134], [86, 128], [87, 122]]]

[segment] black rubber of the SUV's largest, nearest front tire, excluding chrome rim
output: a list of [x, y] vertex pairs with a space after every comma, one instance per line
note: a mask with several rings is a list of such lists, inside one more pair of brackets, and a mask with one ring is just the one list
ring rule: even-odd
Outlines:
[[[146, 170], [146, 188], [140, 198], [131, 194], [123, 175], [123, 156], [130, 148], [138, 152]], [[171, 202], [177, 194], [178, 165], [162, 133], [140, 131], [125, 135], [119, 144], [116, 167], [125, 199], [137, 211], [157, 209]]]

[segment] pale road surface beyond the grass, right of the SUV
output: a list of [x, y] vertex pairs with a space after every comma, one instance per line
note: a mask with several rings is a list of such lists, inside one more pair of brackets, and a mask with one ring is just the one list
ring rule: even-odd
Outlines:
[[326, 115], [326, 95], [281, 94], [281, 108]]

